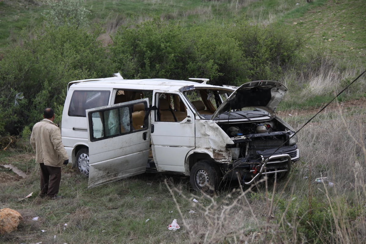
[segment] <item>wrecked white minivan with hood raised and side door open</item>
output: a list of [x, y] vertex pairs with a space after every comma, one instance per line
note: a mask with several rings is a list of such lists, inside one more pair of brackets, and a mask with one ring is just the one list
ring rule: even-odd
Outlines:
[[62, 141], [88, 187], [146, 170], [190, 176], [191, 187], [207, 193], [233, 176], [242, 184], [287, 176], [299, 159], [294, 129], [275, 113], [287, 88], [194, 80], [114, 74], [68, 84]]

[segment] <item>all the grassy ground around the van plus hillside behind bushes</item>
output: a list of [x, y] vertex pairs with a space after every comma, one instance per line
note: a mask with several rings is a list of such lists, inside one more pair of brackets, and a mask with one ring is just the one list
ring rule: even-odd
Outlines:
[[[290, 90], [278, 112], [299, 129], [334, 97], [335, 87], [348, 85], [365, 69], [365, 4], [90, 0], [85, 7], [91, 12], [90, 26], [105, 27], [105, 40], [120, 26], [154, 17], [187, 28], [247, 18], [304, 35], [302, 56], [310, 61], [282, 77]], [[42, 26], [46, 10], [44, 1], [0, 0], [1, 50], [21, 45], [20, 31], [31, 36]], [[23, 221], [18, 230], [0, 236], [0, 243], [365, 243], [365, 87], [362, 77], [347, 91], [348, 98], [357, 99], [345, 101], [343, 96], [299, 132], [301, 159], [286, 181], [269, 179], [251, 188], [223, 182], [215, 196], [190, 191], [187, 177], [166, 174], [142, 174], [87, 189], [87, 178], [67, 165], [60, 188], [64, 198], [41, 199], [30, 131], [18, 141], [11, 138], [0, 152], [0, 165], [16, 166], [27, 177], [0, 166], [0, 209], [19, 211]], [[317, 183], [318, 177], [327, 179]], [[181, 227], [174, 232], [167, 229], [173, 219]]]

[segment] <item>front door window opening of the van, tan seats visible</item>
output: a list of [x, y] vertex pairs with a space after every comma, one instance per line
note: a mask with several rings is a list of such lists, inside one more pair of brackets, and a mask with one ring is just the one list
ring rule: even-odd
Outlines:
[[180, 122], [187, 117], [187, 108], [177, 94], [158, 93], [157, 121]]

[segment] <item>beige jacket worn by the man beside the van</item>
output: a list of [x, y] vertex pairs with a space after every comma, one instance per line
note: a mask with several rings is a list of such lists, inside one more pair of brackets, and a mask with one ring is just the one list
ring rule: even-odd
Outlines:
[[43, 119], [33, 126], [30, 144], [36, 151], [36, 163], [61, 167], [68, 159], [62, 144], [60, 128], [49, 119]]

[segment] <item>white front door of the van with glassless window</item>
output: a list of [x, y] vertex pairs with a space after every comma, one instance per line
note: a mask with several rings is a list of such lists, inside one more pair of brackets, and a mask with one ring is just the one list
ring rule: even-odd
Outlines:
[[157, 171], [188, 175], [186, 157], [195, 148], [194, 114], [177, 91], [154, 90], [153, 101], [157, 110], [152, 115], [151, 148]]

